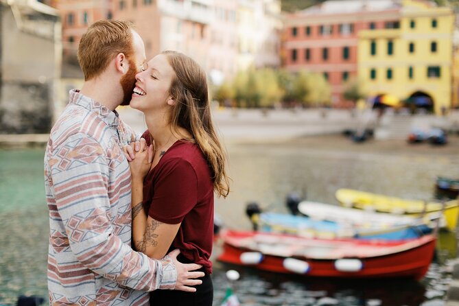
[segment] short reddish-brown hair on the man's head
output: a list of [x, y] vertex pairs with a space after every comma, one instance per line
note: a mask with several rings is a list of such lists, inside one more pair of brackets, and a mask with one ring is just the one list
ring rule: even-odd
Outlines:
[[123, 53], [126, 58], [134, 54], [132, 27], [127, 21], [101, 20], [88, 28], [78, 46], [78, 62], [84, 80], [91, 80], [104, 72], [117, 54]]

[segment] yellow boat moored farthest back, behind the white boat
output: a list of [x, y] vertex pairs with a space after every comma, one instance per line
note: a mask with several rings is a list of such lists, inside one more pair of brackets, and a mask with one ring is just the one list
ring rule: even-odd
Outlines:
[[[441, 202], [405, 200], [354, 189], [338, 189], [335, 196], [344, 207], [355, 207], [357, 209], [367, 209], [379, 211], [381, 213], [422, 215], [424, 213], [438, 213], [443, 207]], [[443, 215], [445, 217], [446, 227], [450, 231], [454, 231], [454, 229], [456, 229], [458, 224], [458, 214], [458, 200], [449, 200], [445, 202]]]

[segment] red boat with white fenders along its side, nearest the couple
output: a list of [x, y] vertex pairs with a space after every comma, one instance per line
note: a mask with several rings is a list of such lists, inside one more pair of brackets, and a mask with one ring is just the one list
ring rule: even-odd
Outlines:
[[217, 260], [260, 270], [340, 278], [422, 279], [436, 237], [408, 240], [309, 239], [274, 233], [224, 231]]

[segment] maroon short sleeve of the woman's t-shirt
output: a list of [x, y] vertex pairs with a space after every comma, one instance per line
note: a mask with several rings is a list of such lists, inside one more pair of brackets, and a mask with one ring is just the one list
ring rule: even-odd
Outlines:
[[181, 158], [166, 161], [154, 182], [148, 214], [154, 220], [178, 224], [196, 205], [198, 178], [192, 165]]

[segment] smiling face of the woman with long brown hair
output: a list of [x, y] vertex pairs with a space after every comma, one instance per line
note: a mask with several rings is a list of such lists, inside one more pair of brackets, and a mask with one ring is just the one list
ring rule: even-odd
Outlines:
[[169, 108], [174, 99], [169, 94], [169, 88], [175, 76], [167, 56], [159, 54], [152, 58], [144, 67], [145, 70], [137, 73], [136, 86], [132, 93], [130, 106], [147, 112]]

